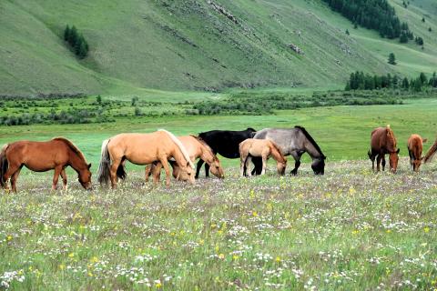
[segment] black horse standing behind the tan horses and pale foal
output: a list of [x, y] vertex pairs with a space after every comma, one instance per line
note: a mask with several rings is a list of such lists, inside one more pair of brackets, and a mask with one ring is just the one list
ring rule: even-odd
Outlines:
[[[198, 134], [198, 136], [208, 144], [208, 146], [212, 149], [214, 155], [217, 155], [219, 153], [221, 156], [227, 158], [238, 158], [239, 143], [253, 137], [256, 132], [257, 131], [255, 129], [249, 127], [248, 129], [241, 131], [211, 130], [200, 133]], [[198, 178], [198, 172], [200, 171], [203, 163], [203, 160], [198, 160], [196, 178]], [[206, 176], [209, 176], [208, 164], [205, 164], [205, 174]]]

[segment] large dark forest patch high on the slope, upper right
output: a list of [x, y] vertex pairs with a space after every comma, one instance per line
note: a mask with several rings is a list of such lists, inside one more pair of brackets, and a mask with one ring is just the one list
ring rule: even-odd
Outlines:
[[401, 23], [394, 8], [387, 0], [323, 0], [334, 11], [345, 16], [355, 25], [376, 30], [382, 37], [400, 38], [407, 43], [414, 36], [407, 23]]

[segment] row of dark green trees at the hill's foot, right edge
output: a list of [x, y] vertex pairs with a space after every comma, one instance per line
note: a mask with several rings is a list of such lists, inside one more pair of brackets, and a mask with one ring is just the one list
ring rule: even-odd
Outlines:
[[370, 75], [363, 72], [352, 73], [345, 90], [378, 90], [381, 88], [400, 88], [403, 90], [422, 91], [424, 87], [437, 87], [437, 75], [434, 72], [430, 79], [421, 73], [418, 77], [408, 79], [401, 78], [397, 75]]

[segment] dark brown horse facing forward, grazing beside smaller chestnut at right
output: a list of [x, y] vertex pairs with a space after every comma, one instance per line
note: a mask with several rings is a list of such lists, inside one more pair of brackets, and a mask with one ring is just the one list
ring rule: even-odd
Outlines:
[[371, 159], [371, 169], [375, 170], [375, 157], [377, 157], [376, 170], [380, 171], [380, 163], [382, 160], [382, 171], [385, 169], [385, 155], [389, 154], [390, 169], [392, 173], [396, 173], [399, 161], [400, 149], [396, 149], [396, 137], [390, 128], [386, 127], [375, 128], [371, 132], [371, 150], [367, 153]]

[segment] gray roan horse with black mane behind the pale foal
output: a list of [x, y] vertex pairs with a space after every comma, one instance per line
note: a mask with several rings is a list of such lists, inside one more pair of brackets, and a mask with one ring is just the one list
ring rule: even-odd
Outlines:
[[[314, 174], [323, 175], [325, 173], [326, 156], [323, 155], [320, 147], [307, 130], [301, 126], [295, 126], [294, 128], [265, 128], [258, 131], [253, 138], [270, 139], [280, 146], [284, 156], [293, 156], [296, 162], [294, 169], [291, 171], [292, 175], [298, 174], [300, 157], [304, 153], [308, 153], [312, 158], [311, 168]], [[252, 175], [255, 173], [259, 175], [261, 173], [260, 160], [259, 158], [252, 158], [252, 161], [255, 165]]]

